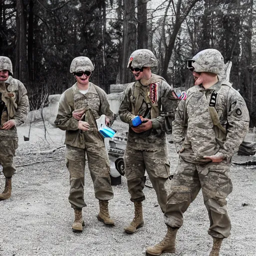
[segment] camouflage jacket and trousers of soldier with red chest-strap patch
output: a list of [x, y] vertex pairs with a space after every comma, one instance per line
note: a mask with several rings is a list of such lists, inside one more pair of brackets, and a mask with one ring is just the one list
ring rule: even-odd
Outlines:
[[162, 211], [165, 211], [170, 186], [165, 131], [171, 130], [178, 102], [172, 92], [170, 85], [162, 77], [152, 74], [147, 86], [143, 86], [140, 81], [128, 85], [119, 108], [123, 122], [131, 124], [132, 117], [137, 114], [152, 120], [152, 128], [141, 133], [136, 133], [129, 127], [124, 154], [125, 176], [130, 200], [141, 202], [145, 199], [142, 190], [146, 169]]

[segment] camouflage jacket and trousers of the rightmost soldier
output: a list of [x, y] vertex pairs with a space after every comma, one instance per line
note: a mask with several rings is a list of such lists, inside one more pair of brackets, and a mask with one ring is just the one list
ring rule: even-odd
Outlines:
[[[220, 124], [226, 129], [226, 137], [216, 134], [208, 107], [212, 92], [217, 92], [216, 111]], [[246, 104], [230, 83], [221, 80], [208, 89], [196, 85], [187, 90], [172, 122], [172, 134], [179, 152], [177, 172], [171, 180], [171, 192], [167, 198], [165, 223], [180, 227], [183, 213], [202, 189], [210, 226], [208, 233], [213, 237], [225, 238], [230, 233], [226, 197], [232, 191], [229, 176], [231, 156], [248, 129]], [[222, 162], [214, 163], [204, 155], [218, 154]]]

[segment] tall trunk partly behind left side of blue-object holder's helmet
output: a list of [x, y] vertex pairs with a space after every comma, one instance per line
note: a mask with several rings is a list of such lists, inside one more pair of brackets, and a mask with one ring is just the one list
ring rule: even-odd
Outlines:
[[121, 57], [121, 83], [132, 81], [132, 75], [127, 70], [129, 55], [135, 50], [136, 25], [135, 25], [135, 1], [123, 1], [123, 35], [122, 35], [122, 57]]

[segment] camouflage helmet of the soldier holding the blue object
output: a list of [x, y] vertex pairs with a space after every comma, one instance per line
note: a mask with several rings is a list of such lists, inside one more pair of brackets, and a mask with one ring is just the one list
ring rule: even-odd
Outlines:
[[130, 54], [128, 65], [132, 67], [157, 66], [157, 59], [153, 52], [148, 49], [138, 49]]

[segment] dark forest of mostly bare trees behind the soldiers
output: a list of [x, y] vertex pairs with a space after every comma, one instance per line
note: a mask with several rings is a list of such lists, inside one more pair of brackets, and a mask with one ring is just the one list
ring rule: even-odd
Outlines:
[[191, 86], [185, 60], [216, 48], [231, 60], [230, 81], [256, 125], [256, 0], [0, 0], [0, 55], [26, 86], [30, 107], [70, 87], [71, 60], [88, 56], [92, 82], [109, 92], [132, 80], [126, 64], [138, 48], [159, 59], [155, 72]]

